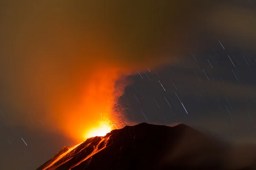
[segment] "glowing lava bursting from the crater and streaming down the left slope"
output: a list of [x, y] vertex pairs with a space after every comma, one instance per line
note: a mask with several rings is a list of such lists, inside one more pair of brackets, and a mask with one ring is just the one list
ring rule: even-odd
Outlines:
[[[125, 119], [125, 109], [126, 108], [123, 108], [122, 105], [118, 103], [114, 103], [112, 106], [107, 105], [106, 114], [102, 115], [101, 113], [101, 121], [98, 122], [98, 124], [96, 123], [94, 127], [87, 127], [87, 129], [90, 130], [87, 130], [87, 133], [84, 135], [84, 138], [86, 139], [85, 142], [68, 148], [68, 150], [67, 147], [64, 147], [61, 151], [55, 154], [55, 156], [53, 156], [52, 160], [50, 160], [50, 162], [46, 164], [42, 170], [55, 170], [58, 167], [63, 166], [63, 164], [71, 159], [74, 159], [74, 156], [78, 152], [80, 153], [81, 150], [88, 152], [88, 156], [80, 160], [79, 163], [73, 165], [71, 167], [73, 168], [81, 164], [81, 162], [90, 159], [91, 156], [95, 155], [99, 151], [103, 150], [107, 146], [110, 137], [105, 137], [107, 133], [111, 132], [111, 130], [122, 128], [125, 125], [130, 125]], [[113, 124], [108, 118], [113, 120], [115, 124]], [[79, 147], [83, 148], [81, 149]]]

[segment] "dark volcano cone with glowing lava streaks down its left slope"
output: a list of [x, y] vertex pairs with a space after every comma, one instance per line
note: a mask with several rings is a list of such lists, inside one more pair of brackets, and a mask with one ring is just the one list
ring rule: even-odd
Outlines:
[[236, 146], [184, 124], [141, 123], [63, 147], [37, 170], [256, 170], [256, 147]]

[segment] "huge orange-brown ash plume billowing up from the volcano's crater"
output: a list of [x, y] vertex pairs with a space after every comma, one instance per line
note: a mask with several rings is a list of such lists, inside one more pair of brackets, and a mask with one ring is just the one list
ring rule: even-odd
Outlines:
[[202, 0], [35, 1], [0, 4], [1, 108], [79, 141], [102, 117], [123, 126], [112, 106], [128, 84], [116, 80], [188, 52], [210, 13]]

